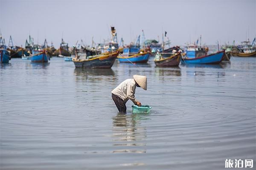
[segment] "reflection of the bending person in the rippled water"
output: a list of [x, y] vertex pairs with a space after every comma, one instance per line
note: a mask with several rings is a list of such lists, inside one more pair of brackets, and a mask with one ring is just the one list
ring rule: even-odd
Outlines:
[[140, 122], [146, 115], [118, 113], [112, 119], [113, 153], [146, 153], [146, 128]]

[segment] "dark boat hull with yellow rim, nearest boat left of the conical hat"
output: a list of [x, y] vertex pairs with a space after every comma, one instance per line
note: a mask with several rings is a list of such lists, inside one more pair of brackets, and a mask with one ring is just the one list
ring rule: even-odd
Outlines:
[[88, 59], [73, 58], [76, 68], [111, 68], [119, 52], [113, 52], [106, 55], [95, 55]]

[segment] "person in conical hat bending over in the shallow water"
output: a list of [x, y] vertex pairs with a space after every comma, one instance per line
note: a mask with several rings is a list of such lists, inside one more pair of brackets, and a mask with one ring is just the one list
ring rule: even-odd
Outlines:
[[141, 103], [137, 101], [134, 96], [136, 87], [141, 87], [144, 90], [147, 90], [147, 77], [134, 75], [133, 79], [126, 79], [111, 91], [112, 99], [119, 112], [126, 112], [125, 103], [128, 99], [130, 99], [134, 105], [141, 106]]

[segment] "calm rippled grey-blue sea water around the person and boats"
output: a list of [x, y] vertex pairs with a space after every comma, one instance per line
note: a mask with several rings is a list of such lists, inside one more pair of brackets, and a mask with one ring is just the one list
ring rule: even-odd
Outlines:
[[[149, 114], [118, 113], [111, 90], [148, 77], [136, 98]], [[12, 59], [0, 67], [1, 170], [220, 170], [256, 166], [256, 58], [157, 68], [75, 69]]]

